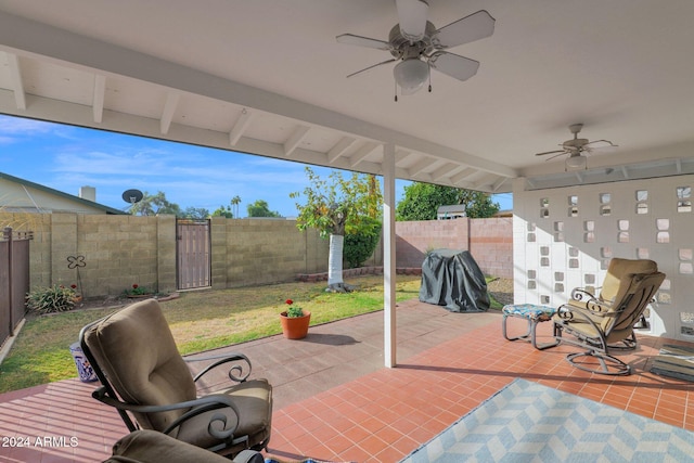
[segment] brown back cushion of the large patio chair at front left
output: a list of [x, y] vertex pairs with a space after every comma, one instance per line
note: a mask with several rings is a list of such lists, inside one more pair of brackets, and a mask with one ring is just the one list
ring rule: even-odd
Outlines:
[[[125, 401], [163, 406], [195, 399], [193, 377], [156, 300], [136, 303], [105, 318], [85, 340]], [[164, 430], [184, 411], [134, 416], [143, 428]]]

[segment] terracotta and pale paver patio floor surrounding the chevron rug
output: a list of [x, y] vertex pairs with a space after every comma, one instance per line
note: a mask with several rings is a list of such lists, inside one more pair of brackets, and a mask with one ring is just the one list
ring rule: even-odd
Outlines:
[[[271, 455], [395, 462], [516, 377], [694, 430], [691, 383], [647, 372], [670, 339], [639, 336], [638, 349], [620, 356], [634, 369], [630, 376], [593, 375], [565, 361], [570, 346], [538, 351], [503, 339], [498, 312], [449, 313], [413, 300], [399, 306], [399, 365], [386, 369], [382, 318], [313, 326], [303, 342], [275, 336], [230, 348], [254, 360], [253, 376], [274, 385]], [[549, 340], [550, 324], [538, 333]], [[93, 387], [70, 380], [0, 395], [0, 446], [29, 438], [29, 447], [0, 447], [0, 461], [104, 459], [126, 429], [89, 397]], [[37, 445], [43, 437], [51, 440]]]

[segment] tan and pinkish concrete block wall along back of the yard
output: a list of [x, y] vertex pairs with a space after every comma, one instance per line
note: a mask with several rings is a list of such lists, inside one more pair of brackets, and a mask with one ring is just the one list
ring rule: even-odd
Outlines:
[[[117, 295], [133, 283], [162, 292], [177, 288], [174, 216], [0, 213], [0, 224], [34, 231], [31, 287], [76, 284], [77, 271], [68, 267], [68, 257], [83, 256], [79, 273], [86, 297]], [[327, 271], [327, 240], [316, 230], [297, 230], [294, 220], [214, 218], [210, 227], [215, 288]], [[471, 236], [471, 230], [479, 236]], [[396, 265], [401, 268], [421, 268], [427, 250], [453, 248], [470, 249], [486, 273], [512, 272], [507, 219], [396, 222]], [[383, 265], [382, 243], [364, 265]]]

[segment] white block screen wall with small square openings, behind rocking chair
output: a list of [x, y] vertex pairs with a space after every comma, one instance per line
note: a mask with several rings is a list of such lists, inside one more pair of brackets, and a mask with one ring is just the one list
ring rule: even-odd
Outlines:
[[652, 259], [666, 273], [650, 334], [694, 340], [694, 176], [514, 191], [514, 297], [558, 306], [594, 290], [609, 259]]

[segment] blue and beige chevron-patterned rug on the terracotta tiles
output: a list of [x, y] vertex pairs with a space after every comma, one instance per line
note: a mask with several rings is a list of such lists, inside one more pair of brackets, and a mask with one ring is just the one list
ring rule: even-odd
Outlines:
[[694, 433], [515, 380], [402, 462], [682, 462]]

